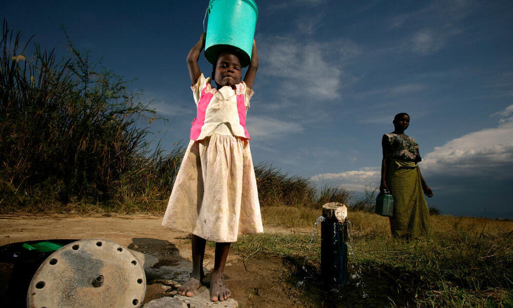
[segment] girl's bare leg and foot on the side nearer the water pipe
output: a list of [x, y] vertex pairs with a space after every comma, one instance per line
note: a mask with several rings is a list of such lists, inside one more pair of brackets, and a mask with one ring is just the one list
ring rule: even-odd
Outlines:
[[215, 261], [210, 280], [210, 300], [223, 301], [231, 296], [230, 289], [224, 282], [224, 266], [228, 258], [231, 243], [215, 243]]

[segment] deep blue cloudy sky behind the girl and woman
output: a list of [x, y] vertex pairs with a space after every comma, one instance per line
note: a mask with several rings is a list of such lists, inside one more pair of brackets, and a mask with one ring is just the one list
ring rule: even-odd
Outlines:
[[[195, 105], [185, 57], [208, 1], [3, 2], [9, 27], [65, 55], [76, 47], [144, 89], [187, 143]], [[380, 180], [381, 137], [408, 112], [442, 213], [513, 219], [513, 2], [257, 1], [260, 67], [248, 111], [254, 163], [362, 196]], [[200, 68], [209, 75], [211, 65]]]

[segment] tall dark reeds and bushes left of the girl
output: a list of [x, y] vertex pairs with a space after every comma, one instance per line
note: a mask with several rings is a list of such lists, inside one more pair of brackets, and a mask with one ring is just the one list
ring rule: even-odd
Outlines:
[[141, 93], [91, 63], [69, 38], [70, 54], [59, 62], [53, 50], [38, 44], [28, 56], [31, 40], [22, 44], [21, 34], [3, 22], [2, 211], [98, 202], [133, 211], [163, 203], [183, 150], [165, 155], [158, 146], [151, 149], [149, 125], [160, 116], [140, 101]]

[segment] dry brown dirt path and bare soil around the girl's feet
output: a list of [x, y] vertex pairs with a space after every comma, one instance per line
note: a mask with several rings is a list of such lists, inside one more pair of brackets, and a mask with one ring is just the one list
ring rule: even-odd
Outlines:
[[[135, 251], [159, 258], [155, 266], [173, 265], [179, 258], [190, 260], [188, 235], [161, 226], [161, 217], [77, 217], [43, 215], [0, 216], [0, 246], [41, 239], [101, 238], [125, 245]], [[270, 226], [266, 232], [293, 232]], [[298, 230], [295, 230], [298, 232]], [[307, 233], [306, 230], [299, 230]], [[176, 251], [178, 254], [176, 254]], [[214, 251], [206, 248], [206, 267], [213, 265]], [[231, 254], [225, 271], [233, 298], [240, 307], [305, 307], [311, 306], [295, 298], [289, 281], [290, 265], [281, 258], [253, 256], [243, 262]], [[162, 296], [161, 285], [148, 285], [145, 302]]]

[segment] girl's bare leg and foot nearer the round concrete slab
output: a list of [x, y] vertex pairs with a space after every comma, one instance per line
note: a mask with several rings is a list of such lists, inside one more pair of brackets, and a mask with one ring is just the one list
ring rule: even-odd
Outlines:
[[201, 286], [203, 280], [203, 257], [205, 256], [206, 240], [191, 234], [192, 248], [192, 272], [191, 277], [178, 288], [178, 293], [183, 296], [193, 296]]

